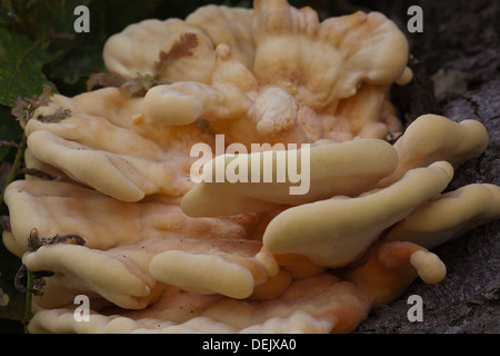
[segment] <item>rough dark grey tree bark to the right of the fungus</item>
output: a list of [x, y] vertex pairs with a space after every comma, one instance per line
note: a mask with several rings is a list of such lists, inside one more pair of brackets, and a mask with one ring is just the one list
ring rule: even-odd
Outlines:
[[[408, 33], [416, 80], [394, 90], [407, 122], [434, 112], [480, 120], [490, 134], [487, 151], [460, 167], [448, 189], [500, 185], [500, 2], [378, 2], [376, 9], [399, 19], [407, 33], [408, 7], [423, 9], [423, 32]], [[500, 333], [499, 227], [497, 220], [437, 248], [446, 279], [433, 286], [416, 280], [400, 299], [372, 310], [357, 333]], [[408, 319], [411, 295], [423, 299], [423, 322]]]

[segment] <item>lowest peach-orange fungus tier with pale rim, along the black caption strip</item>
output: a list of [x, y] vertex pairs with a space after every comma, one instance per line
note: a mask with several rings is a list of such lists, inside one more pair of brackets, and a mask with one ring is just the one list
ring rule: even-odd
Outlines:
[[73, 310], [38, 312], [30, 333], [349, 333], [370, 300], [353, 284], [322, 274], [292, 281], [281, 296], [264, 301], [203, 296], [170, 289], [142, 310], [100, 315], [78, 323]]

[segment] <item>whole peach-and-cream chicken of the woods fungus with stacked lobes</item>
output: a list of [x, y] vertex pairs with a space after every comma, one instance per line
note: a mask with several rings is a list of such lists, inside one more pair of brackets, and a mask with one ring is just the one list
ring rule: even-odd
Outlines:
[[[411, 80], [408, 57], [381, 13], [319, 21], [286, 0], [109, 38], [101, 88], [23, 125], [27, 167], [47, 175], [8, 187], [3, 243], [51, 273], [29, 330], [349, 333], [416, 278], [441, 281], [431, 249], [498, 219], [500, 187], [444, 191], [488, 132], [432, 113], [403, 128], [389, 89]], [[196, 145], [216, 151], [198, 180]], [[277, 178], [290, 157], [303, 194], [260, 169]], [[210, 179], [234, 167], [242, 179]]]

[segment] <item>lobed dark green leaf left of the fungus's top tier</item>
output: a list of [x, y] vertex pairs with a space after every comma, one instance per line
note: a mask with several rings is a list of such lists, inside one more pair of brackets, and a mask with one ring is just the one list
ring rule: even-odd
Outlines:
[[50, 60], [27, 37], [0, 29], [0, 105], [14, 107], [17, 98], [39, 95], [43, 85], [51, 85], [42, 72]]

